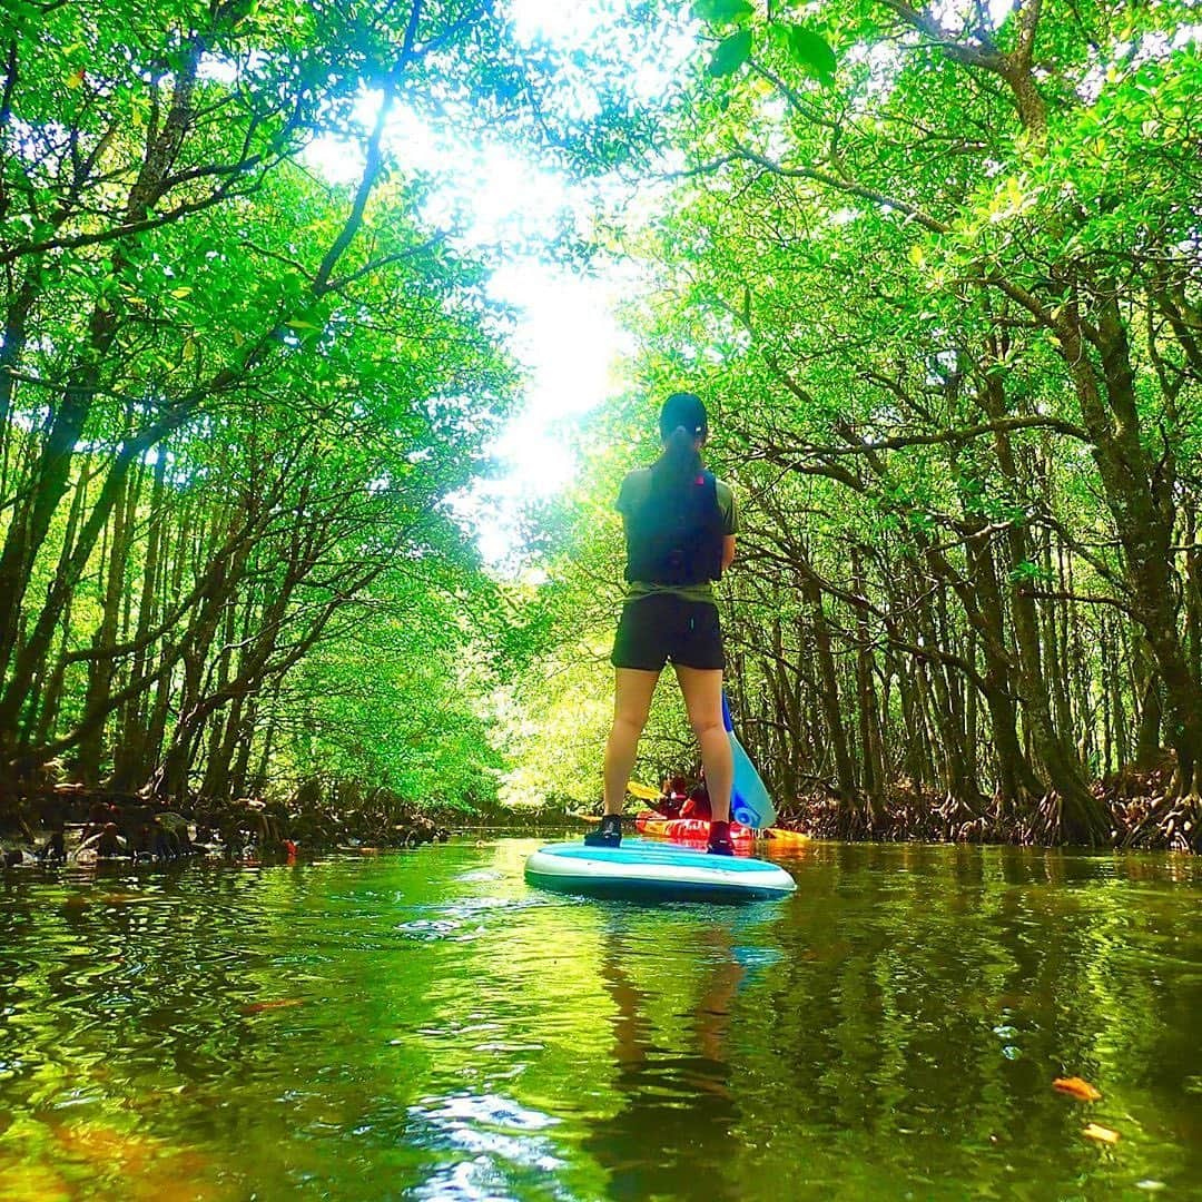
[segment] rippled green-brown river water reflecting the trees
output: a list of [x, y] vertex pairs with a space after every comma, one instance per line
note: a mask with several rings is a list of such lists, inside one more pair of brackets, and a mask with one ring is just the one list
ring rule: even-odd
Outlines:
[[535, 846], [8, 873], [0, 1197], [1202, 1197], [1197, 861], [815, 844], [656, 908]]

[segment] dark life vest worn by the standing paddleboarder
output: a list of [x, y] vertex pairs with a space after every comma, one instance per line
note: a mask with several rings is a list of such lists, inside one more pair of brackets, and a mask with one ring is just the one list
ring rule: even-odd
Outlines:
[[653, 472], [625, 518], [627, 581], [686, 585], [722, 578], [722, 512], [712, 471], [686, 484], [661, 483]]

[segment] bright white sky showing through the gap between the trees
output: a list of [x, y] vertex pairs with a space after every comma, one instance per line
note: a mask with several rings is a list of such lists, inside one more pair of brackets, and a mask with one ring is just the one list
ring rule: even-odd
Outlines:
[[[623, 0], [511, 0], [520, 35], [546, 37], [569, 49], [583, 46]], [[645, 79], [648, 89], [662, 81]], [[379, 96], [365, 96], [359, 118], [368, 127]], [[591, 210], [584, 186], [573, 185], [500, 142], [470, 145], [440, 137], [411, 113], [398, 113], [389, 141], [400, 161], [416, 171], [441, 175], [426, 213], [439, 227], [454, 228], [469, 251], [495, 255], [499, 245], [514, 248], [493, 260], [492, 294], [518, 311], [511, 350], [525, 371], [520, 412], [494, 447], [499, 476], [482, 481], [460, 506], [475, 513], [481, 551], [500, 565], [516, 549], [516, 522], [524, 501], [551, 495], [572, 476], [576, 464], [561, 435], [565, 421], [611, 395], [621, 351], [614, 316], [620, 290], [630, 280], [614, 269], [583, 272], [537, 256], [549, 245], [565, 216], [588, 230]], [[357, 148], [334, 138], [319, 139], [308, 160], [327, 178], [352, 182], [362, 171]], [[448, 169], [453, 165], [453, 171]], [[517, 248], [529, 248], [522, 251]]]

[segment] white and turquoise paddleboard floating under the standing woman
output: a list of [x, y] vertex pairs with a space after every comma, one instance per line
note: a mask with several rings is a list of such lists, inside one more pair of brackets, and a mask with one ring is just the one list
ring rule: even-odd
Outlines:
[[746, 856], [624, 839], [620, 847], [553, 843], [526, 859], [526, 880], [559, 893], [644, 900], [739, 902], [784, 898], [797, 882], [783, 868]]

